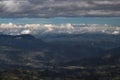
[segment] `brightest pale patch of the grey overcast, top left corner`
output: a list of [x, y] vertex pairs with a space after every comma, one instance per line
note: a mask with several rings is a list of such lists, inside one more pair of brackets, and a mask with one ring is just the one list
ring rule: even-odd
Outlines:
[[25, 6], [30, 5], [28, 0], [3, 0], [0, 5], [6, 13], [22, 12]]

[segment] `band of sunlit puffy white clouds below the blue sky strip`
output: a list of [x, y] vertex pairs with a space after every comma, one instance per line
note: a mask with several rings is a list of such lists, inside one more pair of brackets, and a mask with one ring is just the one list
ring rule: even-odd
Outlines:
[[[83, 27], [84, 26], [84, 27]], [[120, 27], [98, 24], [24, 24], [13, 23], [0, 24], [0, 33], [10, 35], [32, 34], [35, 36], [45, 36], [53, 34], [120, 34]]]

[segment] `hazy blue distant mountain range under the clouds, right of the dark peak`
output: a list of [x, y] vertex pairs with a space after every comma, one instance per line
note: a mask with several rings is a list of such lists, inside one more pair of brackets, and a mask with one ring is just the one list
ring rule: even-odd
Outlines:
[[46, 42], [53, 44], [71, 44], [94, 46], [103, 49], [111, 49], [120, 46], [120, 35], [100, 34], [100, 33], [83, 33], [83, 34], [47, 34], [41, 37]]

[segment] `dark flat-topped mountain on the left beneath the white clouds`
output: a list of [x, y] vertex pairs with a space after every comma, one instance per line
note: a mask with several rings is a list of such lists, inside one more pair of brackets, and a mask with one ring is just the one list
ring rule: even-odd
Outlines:
[[37, 39], [30, 34], [23, 35], [0, 35], [0, 45], [20, 49], [38, 49], [45, 45], [44, 41]]

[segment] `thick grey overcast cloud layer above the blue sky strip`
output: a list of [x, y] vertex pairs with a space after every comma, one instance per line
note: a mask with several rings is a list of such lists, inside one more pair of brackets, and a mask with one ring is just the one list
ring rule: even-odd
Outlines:
[[0, 18], [120, 16], [120, 0], [0, 0]]

